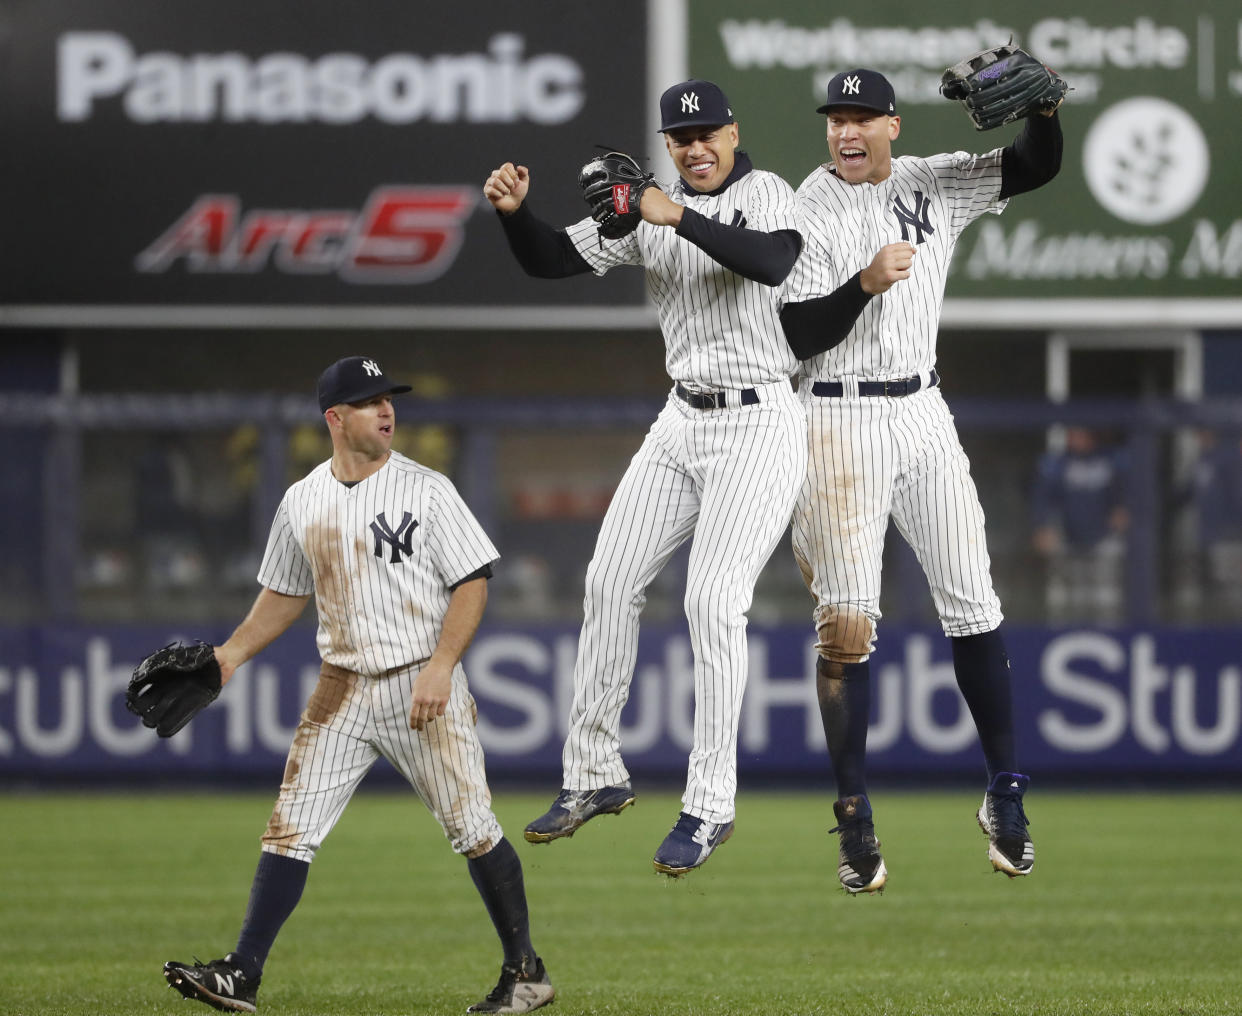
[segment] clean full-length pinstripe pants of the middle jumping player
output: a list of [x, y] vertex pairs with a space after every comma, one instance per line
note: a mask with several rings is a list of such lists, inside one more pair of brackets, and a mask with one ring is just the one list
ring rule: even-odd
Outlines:
[[586, 571], [574, 704], [563, 763], [571, 790], [625, 782], [621, 709], [646, 589], [693, 533], [686, 617], [694, 652], [694, 735], [684, 810], [734, 817], [746, 611], [806, 473], [806, 416], [789, 383], [758, 405], [697, 410], [676, 395], [635, 455]]

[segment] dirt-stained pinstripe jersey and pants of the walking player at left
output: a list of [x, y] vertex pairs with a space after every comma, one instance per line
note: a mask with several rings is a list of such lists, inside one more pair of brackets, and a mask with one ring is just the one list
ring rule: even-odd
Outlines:
[[414, 677], [440, 638], [452, 585], [499, 554], [452, 483], [397, 452], [347, 487], [332, 463], [284, 494], [258, 581], [314, 592], [319, 684], [289, 749], [263, 850], [310, 861], [380, 755], [410, 781], [458, 853], [486, 853], [492, 814], [474, 699], [458, 663], [443, 717], [410, 729]]

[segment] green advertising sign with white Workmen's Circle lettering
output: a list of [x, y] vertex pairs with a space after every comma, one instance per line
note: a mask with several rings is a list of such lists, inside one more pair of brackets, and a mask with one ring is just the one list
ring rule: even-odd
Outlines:
[[815, 108], [828, 79], [854, 67], [893, 83], [894, 154], [1009, 144], [1016, 125], [977, 133], [939, 83], [946, 67], [1012, 37], [1072, 86], [1061, 111], [1063, 164], [1051, 184], [966, 231], [948, 296], [1087, 298], [1097, 324], [1125, 315], [1118, 298], [1164, 297], [1181, 302], [1185, 315], [1174, 322], [1212, 308], [1242, 320], [1237, 5], [1078, 0], [997, 14], [980, 2], [775, 0], [758, 12], [741, 0], [688, 0], [688, 10], [693, 73], [725, 86], [744, 147], [794, 186], [828, 159]]

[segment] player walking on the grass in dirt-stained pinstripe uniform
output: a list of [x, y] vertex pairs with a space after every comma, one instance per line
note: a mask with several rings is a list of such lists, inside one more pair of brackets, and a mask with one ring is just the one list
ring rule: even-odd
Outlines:
[[461, 664], [498, 554], [446, 477], [391, 450], [392, 396], [405, 391], [365, 356], [319, 376], [332, 458], [286, 492], [258, 573], [263, 589], [215, 648], [227, 682], [314, 595], [323, 668], [262, 836], [237, 948], [206, 964], [164, 964], [174, 989], [216, 1009], [255, 1011], [268, 950], [310, 861], [381, 755], [466, 856], [501, 937], [499, 982], [467, 1012], [529, 1012], [553, 1000], [530, 944], [522, 863], [492, 814]]

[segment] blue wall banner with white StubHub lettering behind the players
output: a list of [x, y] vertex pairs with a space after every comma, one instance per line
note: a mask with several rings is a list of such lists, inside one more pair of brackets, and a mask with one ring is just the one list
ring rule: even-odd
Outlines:
[[[318, 678], [313, 630], [238, 671], [180, 734], [160, 740], [124, 708], [134, 664], [188, 632], [0, 628], [0, 778], [278, 778]], [[196, 631], [224, 638], [225, 631]], [[1018, 758], [1043, 775], [1242, 778], [1242, 633], [1236, 630], [1007, 630]], [[486, 627], [466, 658], [492, 776], [555, 784], [573, 698], [575, 628]], [[886, 628], [872, 662], [871, 771], [977, 774], [974, 724], [938, 630]], [[684, 628], [643, 630], [623, 713], [626, 761], [679, 776], [693, 732]], [[750, 628], [738, 754], [746, 774], [822, 779], [815, 653], [801, 627]]]

